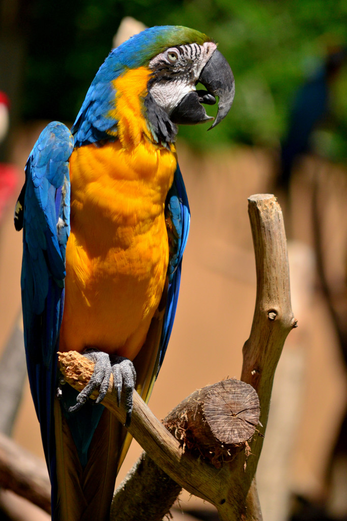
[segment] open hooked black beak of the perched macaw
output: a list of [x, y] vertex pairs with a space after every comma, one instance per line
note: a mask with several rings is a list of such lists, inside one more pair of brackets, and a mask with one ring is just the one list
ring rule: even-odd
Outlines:
[[216, 51], [207, 61], [201, 71], [199, 82], [206, 87], [206, 91], [192, 91], [186, 94], [177, 107], [172, 111], [170, 119], [173, 123], [195, 125], [212, 121], [214, 118], [207, 116], [205, 108], [201, 105], [214, 105], [216, 96], [219, 98], [218, 113], [213, 125], [214, 128], [226, 117], [232, 105], [235, 94], [235, 82], [232, 70], [225, 57]]

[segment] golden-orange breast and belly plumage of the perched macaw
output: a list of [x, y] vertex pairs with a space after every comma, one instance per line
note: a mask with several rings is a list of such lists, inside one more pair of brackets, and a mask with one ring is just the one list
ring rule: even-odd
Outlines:
[[73, 151], [60, 350], [138, 354], [166, 279], [164, 206], [176, 166], [175, 148], [144, 134], [133, 146]]

